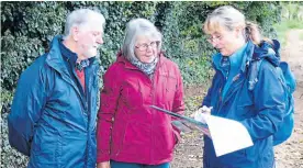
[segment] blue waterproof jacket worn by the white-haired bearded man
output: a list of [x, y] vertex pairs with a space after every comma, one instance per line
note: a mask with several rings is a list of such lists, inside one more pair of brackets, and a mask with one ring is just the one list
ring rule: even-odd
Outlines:
[[30, 156], [30, 168], [94, 168], [99, 63], [90, 58], [81, 92], [64, 63], [59, 38], [19, 79], [9, 141]]

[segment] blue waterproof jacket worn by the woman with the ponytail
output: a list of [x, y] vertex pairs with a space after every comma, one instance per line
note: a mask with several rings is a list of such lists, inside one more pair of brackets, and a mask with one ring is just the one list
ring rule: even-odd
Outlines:
[[[260, 65], [258, 82], [255, 89], [249, 91], [248, 67], [252, 58], [265, 60]], [[222, 90], [227, 79], [220, 70], [217, 59], [214, 60], [215, 76], [202, 104], [213, 107], [212, 115], [243, 123], [252, 138], [254, 146], [216, 157], [212, 139], [204, 136], [204, 168], [272, 168], [272, 134], [282, 122], [287, 99], [276, 71], [279, 54], [274, 53], [268, 43], [256, 46], [248, 42], [240, 68], [233, 77], [224, 98]]]

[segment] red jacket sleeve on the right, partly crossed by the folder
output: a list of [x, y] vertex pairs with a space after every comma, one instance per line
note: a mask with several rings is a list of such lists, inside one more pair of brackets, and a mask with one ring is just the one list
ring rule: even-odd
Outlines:
[[[178, 114], [184, 114], [184, 91], [183, 91], [183, 81], [182, 81], [182, 76], [181, 72], [179, 70], [179, 68], [177, 68], [177, 88], [176, 88], [176, 93], [175, 93], [175, 100], [173, 100], [173, 104], [172, 104], [172, 111], [178, 113]], [[175, 117], [172, 117], [172, 120], [176, 120]], [[177, 128], [176, 126], [172, 125], [173, 128], [173, 133], [177, 137], [177, 143], [180, 139], [180, 131], [179, 128]]]

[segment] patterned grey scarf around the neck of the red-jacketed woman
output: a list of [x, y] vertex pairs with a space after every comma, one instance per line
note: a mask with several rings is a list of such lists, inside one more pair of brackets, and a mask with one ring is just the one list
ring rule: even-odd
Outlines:
[[159, 58], [156, 57], [152, 63], [142, 63], [138, 58], [134, 57], [130, 61], [150, 77], [155, 72], [158, 60]]

